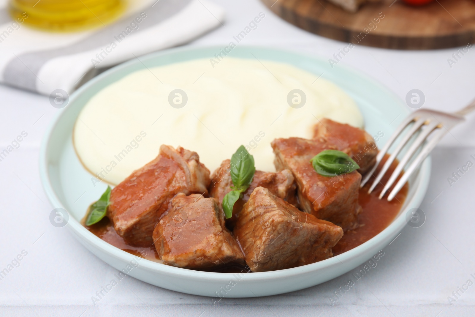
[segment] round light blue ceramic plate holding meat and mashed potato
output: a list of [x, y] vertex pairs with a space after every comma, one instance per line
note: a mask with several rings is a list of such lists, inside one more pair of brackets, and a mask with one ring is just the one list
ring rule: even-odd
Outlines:
[[[61, 110], [47, 131], [40, 153], [40, 174], [48, 199], [54, 208], [68, 211], [66, 227], [75, 233], [76, 238], [116, 269], [124, 269], [130, 261], [137, 258], [97, 238], [79, 223], [87, 206], [100, 197], [106, 185], [101, 183], [94, 186], [91, 182], [92, 175], [84, 169], [75, 154], [72, 131], [76, 115], [102, 88], [145, 66], [150, 68], [195, 58], [212, 58], [217, 52], [218, 47], [174, 48], [141, 57], [141, 61], [134, 59], [111, 68], [72, 94], [68, 105]], [[378, 143], [379, 147], [389, 139], [395, 127], [409, 113], [402, 101], [387, 88], [355, 70], [341, 65], [332, 68], [323, 59], [258, 47], [237, 47], [231, 55], [250, 59], [254, 59], [254, 55], [259, 60], [288, 63], [314, 73], [315, 78], [323, 74], [323, 78], [333, 81], [356, 101], [364, 116], [366, 130], [371, 135], [379, 131], [384, 133]], [[424, 198], [429, 173], [430, 158], [426, 159], [418, 173], [410, 179], [407, 200], [390, 226], [371, 240], [338, 257], [293, 269], [241, 275], [180, 269], [142, 259], [139, 267], [132, 269], [129, 275], [162, 288], [211, 297], [260, 297], [323, 283], [361, 265], [399, 234], [406, 225], [407, 211], [418, 207]]]

